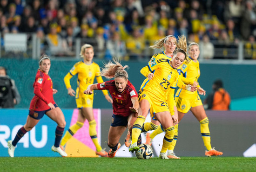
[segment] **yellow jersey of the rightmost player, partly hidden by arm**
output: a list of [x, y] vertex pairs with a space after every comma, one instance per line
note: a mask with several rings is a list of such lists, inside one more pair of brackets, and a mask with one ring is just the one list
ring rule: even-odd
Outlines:
[[[199, 62], [193, 61], [191, 57], [188, 57], [182, 64], [181, 72], [183, 76], [181, 77], [182, 81], [186, 84], [193, 85], [194, 81], [198, 82], [200, 76]], [[199, 85], [197, 86], [200, 87]], [[198, 96], [197, 91], [191, 92], [185, 89], [178, 89], [175, 97], [186, 97], [186, 99], [195, 99]]]

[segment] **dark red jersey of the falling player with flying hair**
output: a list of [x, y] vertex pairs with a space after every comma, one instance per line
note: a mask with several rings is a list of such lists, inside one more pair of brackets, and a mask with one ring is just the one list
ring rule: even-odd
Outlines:
[[135, 87], [132, 83], [128, 81], [126, 88], [119, 92], [115, 86], [115, 80], [106, 81], [104, 83], [97, 84], [98, 89], [108, 89], [112, 99], [113, 99], [113, 113], [115, 115], [129, 116], [131, 115], [131, 110], [129, 107], [133, 107], [131, 101], [132, 97], [138, 97]]

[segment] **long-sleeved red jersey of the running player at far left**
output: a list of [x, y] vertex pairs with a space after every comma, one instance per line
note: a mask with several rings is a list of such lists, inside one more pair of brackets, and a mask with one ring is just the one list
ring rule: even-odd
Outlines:
[[48, 103], [55, 104], [52, 79], [42, 70], [37, 71], [33, 87], [35, 96], [30, 102], [29, 110], [47, 110], [50, 108]]

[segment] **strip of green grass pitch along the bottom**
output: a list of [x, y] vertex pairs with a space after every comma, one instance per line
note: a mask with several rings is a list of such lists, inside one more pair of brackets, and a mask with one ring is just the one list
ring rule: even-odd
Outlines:
[[256, 158], [182, 159], [0, 157], [0, 172], [256, 172]]

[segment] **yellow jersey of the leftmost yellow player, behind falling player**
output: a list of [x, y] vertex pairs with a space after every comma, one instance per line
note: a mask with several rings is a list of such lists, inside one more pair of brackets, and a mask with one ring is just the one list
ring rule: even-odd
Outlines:
[[[64, 83], [68, 88], [71, 87], [70, 79], [77, 75], [77, 89], [75, 98], [83, 97], [83, 91], [87, 89], [88, 85], [94, 83], [96, 77], [98, 83], [103, 83], [103, 79], [100, 74], [100, 66], [94, 62], [91, 64], [85, 64], [84, 61], [77, 62], [74, 64], [71, 70], [64, 77]], [[104, 95], [108, 94], [107, 90], [102, 90]]]

